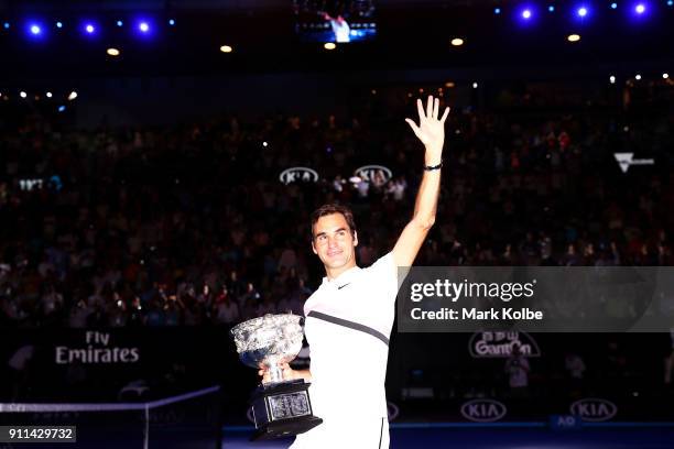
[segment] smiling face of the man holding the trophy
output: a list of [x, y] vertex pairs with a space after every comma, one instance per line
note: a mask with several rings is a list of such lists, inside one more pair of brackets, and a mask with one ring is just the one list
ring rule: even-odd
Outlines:
[[318, 255], [326, 270], [348, 270], [356, 266], [354, 248], [358, 234], [351, 230], [341, 213], [320, 217], [314, 225], [312, 250]]

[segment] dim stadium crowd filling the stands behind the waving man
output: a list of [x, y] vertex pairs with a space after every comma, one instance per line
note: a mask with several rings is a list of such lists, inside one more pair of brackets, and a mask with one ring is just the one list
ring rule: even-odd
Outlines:
[[[423, 152], [405, 108], [95, 131], [39, 113], [0, 123], [0, 326], [302, 314], [323, 275], [314, 208], [352, 206], [361, 265], [411, 216]], [[673, 144], [672, 114], [453, 111], [417, 264], [672, 265]], [[656, 165], [622, 173], [620, 151]], [[393, 177], [354, 179], [367, 164]], [[293, 166], [319, 180], [281, 183]]]

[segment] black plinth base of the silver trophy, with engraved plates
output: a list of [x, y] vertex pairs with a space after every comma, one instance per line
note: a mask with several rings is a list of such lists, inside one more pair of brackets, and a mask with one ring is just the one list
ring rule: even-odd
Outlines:
[[323, 423], [313, 415], [308, 386], [296, 380], [256, 390], [250, 401], [257, 429], [251, 441], [304, 434]]

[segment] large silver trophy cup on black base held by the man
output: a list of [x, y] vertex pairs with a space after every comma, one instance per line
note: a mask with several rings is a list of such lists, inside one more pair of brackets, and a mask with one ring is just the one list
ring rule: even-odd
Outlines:
[[284, 380], [280, 368], [302, 349], [303, 321], [297, 315], [270, 314], [243, 321], [230, 331], [241, 361], [270, 374], [269, 382], [262, 383], [250, 401], [258, 429], [252, 439], [303, 434], [323, 423], [312, 412], [309, 383]]

